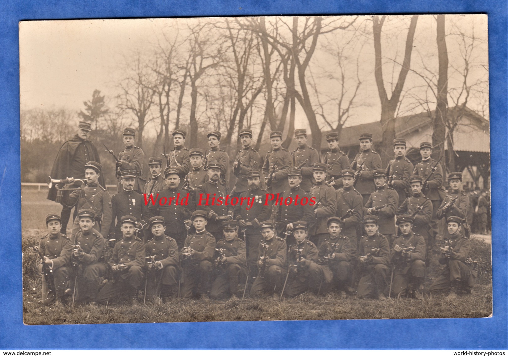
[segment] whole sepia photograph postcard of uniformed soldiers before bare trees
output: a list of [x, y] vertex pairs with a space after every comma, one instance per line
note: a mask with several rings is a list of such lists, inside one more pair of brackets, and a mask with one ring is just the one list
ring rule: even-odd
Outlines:
[[487, 23], [21, 21], [23, 322], [492, 317]]

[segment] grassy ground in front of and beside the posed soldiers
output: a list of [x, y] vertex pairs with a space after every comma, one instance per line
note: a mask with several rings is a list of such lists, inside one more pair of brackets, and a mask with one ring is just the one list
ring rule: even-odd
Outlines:
[[[236, 320], [324, 320], [324, 319], [400, 319], [400, 318], [470, 318], [488, 317], [492, 313], [492, 284], [490, 245], [471, 239], [471, 257], [479, 259], [479, 278], [471, 294], [447, 301], [444, 295], [425, 294], [424, 301], [391, 299], [387, 301], [359, 300], [353, 296], [340, 299], [336, 294], [314, 296], [302, 294], [283, 301], [260, 297], [255, 299], [209, 301], [179, 300], [144, 307], [119, 303], [92, 309], [88, 306], [42, 306], [41, 279], [34, 270], [37, 258], [28, 249], [46, 233], [44, 217], [60, 212], [59, 204], [46, 200], [47, 190], [22, 189], [22, 248], [23, 248], [23, 316], [27, 324], [89, 324], [126, 322], [187, 322]], [[70, 228], [70, 226], [69, 226]], [[439, 273], [438, 247], [432, 253], [427, 288]]]

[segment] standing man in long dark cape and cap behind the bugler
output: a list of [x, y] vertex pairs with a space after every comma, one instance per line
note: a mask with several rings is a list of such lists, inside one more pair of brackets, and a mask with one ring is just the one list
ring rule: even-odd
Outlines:
[[[67, 177], [73, 177], [75, 179], [85, 179], [85, 172], [83, 166], [89, 162], [101, 163], [101, 158], [97, 152], [96, 146], [93, 142], [88, 140], [91, 132], [90, 123], [80, 121], [78, 125], [78, 133], [70, 140], [63, 142], [58, 154], [56, 155], [51, 168], [52, 179], [66, 179]], [[99, 184], [103, 187], [104, 177], [99, 177]], [[78, 188], [79, 184], [74, 184], [71, 187]], [[48, 199], [59, 202], [62, 204], [61, 211], [61, 233], [67, 233], [67, 224], [71, 217], [71, 211], [73, 205], [65, 204], [65, 200], [68, 198], [68, 191], [62, 191], [63, 197], [57, 195], [56, 186], [49, 189]], [[77, 210], [75, 211], [75, 215]], [[74, 216], [76, 217], [76, 216]]]

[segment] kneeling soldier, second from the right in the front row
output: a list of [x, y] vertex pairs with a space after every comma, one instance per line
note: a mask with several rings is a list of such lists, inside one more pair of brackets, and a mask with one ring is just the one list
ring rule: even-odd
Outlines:
[[394, 241], [392, 249], [393, 282], [390, 296], [406, 296], [423, 300], [419, 292], [425, 275], [425, 239], [412, 231], [414, 218], [399, 215], [397, 225], [402, 233]]

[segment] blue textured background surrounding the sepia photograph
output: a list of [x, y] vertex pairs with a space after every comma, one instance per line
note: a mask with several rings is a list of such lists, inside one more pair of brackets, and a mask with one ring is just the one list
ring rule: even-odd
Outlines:
[[[240, 10], [241, 8], [241, 10]], [[507, 349], [506, 1], [51, 1], [0, 6], [0, 349], [439, 348]], [[492, 142], [494, 312], [483, 319], [240, 321], [23, 325], [19, 167], [18, 21], [168, 16], [487, 13]]]

